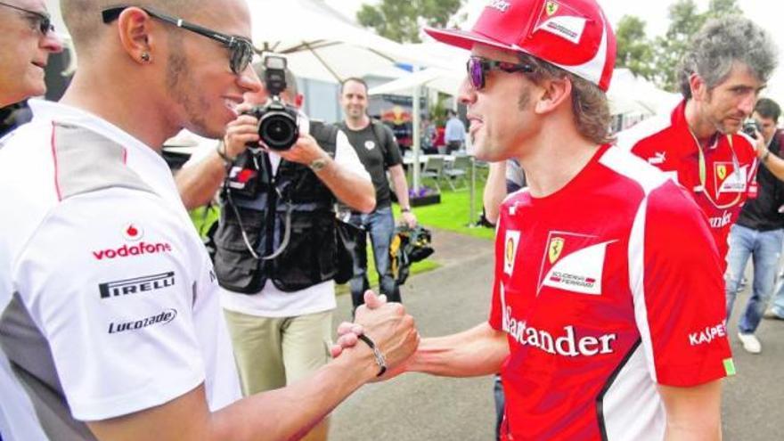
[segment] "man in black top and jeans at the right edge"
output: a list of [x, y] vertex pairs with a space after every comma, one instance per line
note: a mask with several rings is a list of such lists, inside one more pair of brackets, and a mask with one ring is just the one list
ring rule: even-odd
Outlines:
[[[780, 113], [779, 105], [770, 99], [761, 98], [756, 103], [753, 118], [760, 127], [758, 135], [763, 136], [768, 146], [766, 155], [781, 156], [781, 132], [776, 130]], [[732, 226], [725, 275], [729, 318], [748, 257], [754, 257], [752, 294], [738, 323], [739, 332], [745, 335], [745, 339], [741, 339], [743, 348], [752, 354], [762, 351], [754, 333], [773, 292], [784, 239], [784, 215], [779, 211], [784, 204], [784, 183], [766, 167], [767, 159], [762, 157], [756, 180], [749, 187], [746, 205], [740, 211], [738, 222]], [[784, 300], [784, 295], [780, 298]], [[784, 317], [784, 301], [779, 312]]]

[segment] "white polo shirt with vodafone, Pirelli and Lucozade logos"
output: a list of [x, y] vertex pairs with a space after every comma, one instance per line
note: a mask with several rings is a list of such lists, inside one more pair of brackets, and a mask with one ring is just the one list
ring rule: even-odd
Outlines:
[[78, 421], [202, 383], [213, 411], [239, 399], [212, 264], [166, 162], [102, 118], [31, 106], [0, 150], [0, 205], [13, 208], [0, 216], [5, 354]]

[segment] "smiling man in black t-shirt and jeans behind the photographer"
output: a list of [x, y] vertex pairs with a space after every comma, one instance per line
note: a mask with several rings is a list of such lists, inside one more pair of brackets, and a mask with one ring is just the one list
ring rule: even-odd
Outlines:
[[[340, 87], [340, 104], [346, 119], [339, 127], [348, 136], [359, 160], [371, 175], [376, 189], [376, 208], [370, 214], [352, 212], [349, 222], [361, 226], [370, 233], [373, 248], [373, 261], [379, 274], [379, 288], [389, 301], [399, 302], [400, 290], [392, 276], [389, 259], [389, 244], [395, 233], [395, 219], [392, 216], [392, 200], [387, 180], [387, 171], [395, 187], [397, 202], [400, 204], [402, 220], [410, 227], [416, 226], [408, 200], [408, 183], [405, 181], [403, 159], [397, 147], [395, 136], [389, 127], [367, 115], [367, 84], [360, 78], [348, 78]], [[367, 278], [367, 234], [360, 234], [356, 241], [354, 254], [354, 277], [349, 282], [354, 307], [363, 304], [363, 293], [370, 289]]]

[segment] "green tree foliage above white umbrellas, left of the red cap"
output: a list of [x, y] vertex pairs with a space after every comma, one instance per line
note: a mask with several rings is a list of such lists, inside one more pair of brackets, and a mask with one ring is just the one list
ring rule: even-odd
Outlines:
[[400, 43], [420, 43], [423, 25], [454, 25], [450, 20], [463, 3], [465, 0], [381, 0], [376, 5], [363, 4], [356, 12], [356, 20], [382, 37]]

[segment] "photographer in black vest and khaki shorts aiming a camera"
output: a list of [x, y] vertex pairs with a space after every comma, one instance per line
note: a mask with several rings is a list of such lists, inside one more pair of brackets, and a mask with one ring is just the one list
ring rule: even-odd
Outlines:
[[[285, 60], [267, 57], [266, 68], [254, 66], [265, 88], [245, 95], [240, 110], [247, 113], [228, 125], [223, 142], [176, 177], [188, 208], [226, 183], [215, 267], [245, 396], [282, 388], [329, 361], [339, 270], [333, 206], [336, 198], [363, 212], [375, 205], [370, 176], [346, 135], [298, 111], [296, 79], [274, 61]], [[282, 102], [267, 101], [275, 89]], [[292, 118], [300, 137], [287, 149]], [[259, 138], [265, 130], [268, 143]], [[307, 439], [326, 434], [322, 423]]]

